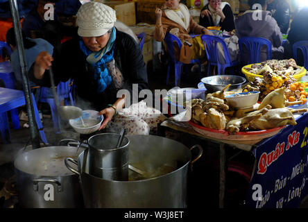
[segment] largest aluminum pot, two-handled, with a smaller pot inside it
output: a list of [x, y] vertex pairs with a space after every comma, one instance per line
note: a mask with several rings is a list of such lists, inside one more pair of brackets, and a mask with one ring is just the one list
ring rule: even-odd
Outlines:
[[[170, 173], [134, 181], [103, 180], [89, 175], [89, 155], [87, 150], [78, 156], [78, 162], [65, 160], [67, 167], [80, 174], [85, 207], [187, 207], [187, 173], [191, 152], [187, 146], [173, 139], [154, 135], [128, 135], [128, 163], [142, 171], [160, 169], [161, 166], [176, 166]], [[191, 148], [191, 149], [192, 149]], [[85, 156], [87, 156], [85, 158]], [[70, 167], [70, 162], [78, 164], [78, 169]], [[176, 163], [176, 165], [174, 164]], [[130, 177], [133, 176], [130, 171]]]

